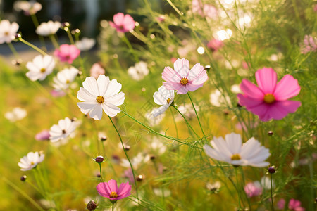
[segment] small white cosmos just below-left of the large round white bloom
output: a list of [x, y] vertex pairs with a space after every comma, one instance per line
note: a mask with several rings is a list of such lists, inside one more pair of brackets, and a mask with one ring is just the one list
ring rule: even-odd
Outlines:
[[54, 124], [51, 129], [49, 129], [49, 140], [51, 142], [56, 142], [59, 140], [63, 141], [64, 139], [68, 139], [75, 129], [76, 122], [66, 117], [64, 120], [59, 120], [58, 124]]

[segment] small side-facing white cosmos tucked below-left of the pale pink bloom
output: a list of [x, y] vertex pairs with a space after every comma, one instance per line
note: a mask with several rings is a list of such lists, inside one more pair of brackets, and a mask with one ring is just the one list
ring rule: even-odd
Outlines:
[[160, 108], [156, 108], [151, 112], [151, 115], [153, 117], [157, 117], [164, 113], [168, 107], [170, 107], [170, 104], [173, 103], [175, 96], [174, 90], [168, 90], [163, 85], [159, 88], [159, 91], [156, 91], [153, 95], [154, 102], [158, 105], [161, 105]]

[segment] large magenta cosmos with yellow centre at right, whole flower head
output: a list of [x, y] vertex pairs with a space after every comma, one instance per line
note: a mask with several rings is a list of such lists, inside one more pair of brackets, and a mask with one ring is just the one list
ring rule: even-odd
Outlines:
[[244, 94], [237, 94], [237, 98], [240, 105], [246, 106], [260, 120], [281, 120], [301, 106], [299, 101], [288, 101], [301, 90], [297, 79], [292, 75], [285, 75], [278, 84], [276, 72], [272, 68], [259, 69], [255, 76], [259, 87], [243, 79], [240, 88]]

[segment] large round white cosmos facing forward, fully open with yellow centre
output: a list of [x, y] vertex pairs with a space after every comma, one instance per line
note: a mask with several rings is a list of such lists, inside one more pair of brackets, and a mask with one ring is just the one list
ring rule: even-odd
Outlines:
[[125, 101], [125, 94], [120, 91], [122, 85], [116, 79], [110, 80], [105, 75], [99, 75], [97, 80], [86, 77], [82, 86], [77, 93], [77, 98], [84, 101], [77, 103], [82, 113], [89, 113], [94, 120], [101, 120], [102, 110], [111, 117], [121, 111], [118, 106]]

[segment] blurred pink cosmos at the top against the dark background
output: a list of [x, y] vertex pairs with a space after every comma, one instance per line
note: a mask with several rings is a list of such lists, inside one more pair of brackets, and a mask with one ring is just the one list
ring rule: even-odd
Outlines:
[[135, 20], [131, 15], [124, 15], [123, 13], [117, 13], [113, 15], [113, 22], [110, 21], [109, 24], [114, 27], [117, 32], [129, 32], [135, 28]]

